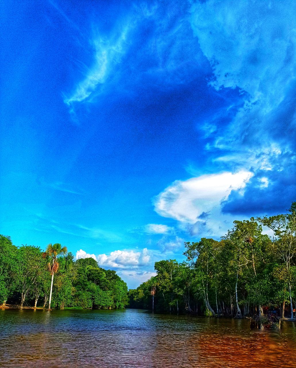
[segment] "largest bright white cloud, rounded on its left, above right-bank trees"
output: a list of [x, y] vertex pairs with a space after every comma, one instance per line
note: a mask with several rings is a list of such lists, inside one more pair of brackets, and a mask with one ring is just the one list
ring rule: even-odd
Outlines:
[[[177, 180], [155, 198], [154, 209], [161, 216], [178, 220], [180, 228], [192, 236], [222, 236], [231, 227], [233, 218], [221, 213], [221, 202], [232, 190], [243, 191], [252, 175], [242, 170]], [[174, 245], [163, 242], [162, 248], [165, 247], [172, 249]]]

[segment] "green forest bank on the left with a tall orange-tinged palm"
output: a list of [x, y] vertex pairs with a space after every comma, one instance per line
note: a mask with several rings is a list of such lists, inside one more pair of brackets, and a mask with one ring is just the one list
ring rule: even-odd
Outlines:
[[[52, 293], [51, 293], [52, 289]], [[126, 283], [92, 258], [77, 259], [61, 244], [43, 252], [33, 245], [16, 247], [0, 235], [0, 302], [43, 308], [123, 308]], [[50, 304], [51, 303], [51, 304]]]

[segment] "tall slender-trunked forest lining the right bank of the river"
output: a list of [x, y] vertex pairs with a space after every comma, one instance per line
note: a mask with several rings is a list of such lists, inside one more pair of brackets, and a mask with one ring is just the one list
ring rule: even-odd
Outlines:
[[129, 290], [130, 307], [238, 318], [269, 307], [295, 318], [296, 202], [287, 214], [234, 221], [220, 241], [185, 243], [183, 254], [156, 262], [157, 275]]

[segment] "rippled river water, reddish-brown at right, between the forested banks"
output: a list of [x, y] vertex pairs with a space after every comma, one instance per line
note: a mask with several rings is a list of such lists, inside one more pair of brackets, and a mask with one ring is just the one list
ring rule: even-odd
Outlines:
[[296, 324], [122, 310], [0, 310], [0, 367], [296, 367]]

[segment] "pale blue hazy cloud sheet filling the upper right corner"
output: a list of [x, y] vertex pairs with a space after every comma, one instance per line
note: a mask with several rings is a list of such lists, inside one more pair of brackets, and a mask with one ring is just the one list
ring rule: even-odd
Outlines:
[[[290, 6], [280, 1], [238, 0], [233, 7], [232, 0], [209, 0], [192, 8], [192, 27], [212, 64], [214, 87], [239, 87], [253, 102], [265, 96], [268, 106], [281, 102], [294, 77], [295, 25]], [[268, 88], [274, 82], [279, 88]]]

